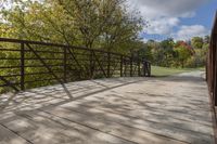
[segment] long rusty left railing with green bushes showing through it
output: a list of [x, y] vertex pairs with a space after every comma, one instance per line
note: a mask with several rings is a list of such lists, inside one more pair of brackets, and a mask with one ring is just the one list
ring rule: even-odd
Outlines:
[[95, 49], [0, 38], [0, 93], [78, 80], [135, 76], [151, 76], [151, 63]]

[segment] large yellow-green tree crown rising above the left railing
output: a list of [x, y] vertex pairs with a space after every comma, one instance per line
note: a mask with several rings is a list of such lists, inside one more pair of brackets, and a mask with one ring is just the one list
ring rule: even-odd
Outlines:
[[[125, 0], [16, 0], [2, 9], [11, 36], [107, 51], [127, 51], [145, 26]], [[9, 30], [10, 31], [10, 30]], [[5, 31], [8, 34], [8, 31]]]

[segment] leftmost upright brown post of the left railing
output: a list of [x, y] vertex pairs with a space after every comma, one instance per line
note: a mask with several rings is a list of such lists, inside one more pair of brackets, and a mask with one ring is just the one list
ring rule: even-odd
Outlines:
[[21, 42], [21, 90], [25, 90], [25, 47]]

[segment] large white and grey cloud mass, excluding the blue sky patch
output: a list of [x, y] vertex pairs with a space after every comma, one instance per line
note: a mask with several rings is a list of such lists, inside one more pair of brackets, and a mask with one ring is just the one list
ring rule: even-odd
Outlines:
[[[193, 35], [207, 34], [207, 29], [199, 25], [181, 26], [180, 18], [195, 16], [195, 10], [208, 1], [210, 0], [128, 0], [128, 5], [132, 10], [139, 10], [149, 21], [150, 26], [144, 28], [143, 32], [187, 39]], [[175, 27], [179, 28], [177, 34], [174, 32]], [[190, 31], [191, 28], [194, 28], [194, 31]]]

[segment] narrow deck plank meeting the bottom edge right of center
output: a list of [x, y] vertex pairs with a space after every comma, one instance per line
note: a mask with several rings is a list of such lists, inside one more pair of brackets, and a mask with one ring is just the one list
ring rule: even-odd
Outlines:
[[[159, 143], [159, 144], [184, 144], [184, 142], [173, 140], [166, 136], [162, 136], [159, 134], [153, 134], [140, 129], [129, 128], [124, 125], [92, 118], [89, 116], [86, 116], [84, 114], [75, 114], [71, 110], [66, 110], [63, 108], [54, 108], [54, 109], [47, 109], [46, 110], [49, 114], [52, 114], [54, 116], [61, 117], [63, 119], [66, 119], [68, 121], [73, 121], [76, 123], [79, 123], [81, 126], [90, 127], [92, 129], [97, 129], [98, 131], [102, 131], [104, 133], [110, 133], [113, 135], [116, 135], [118, 138], [132, 141], [135, 143]], [[106, 115], [106, 114], [105, 114]]]

